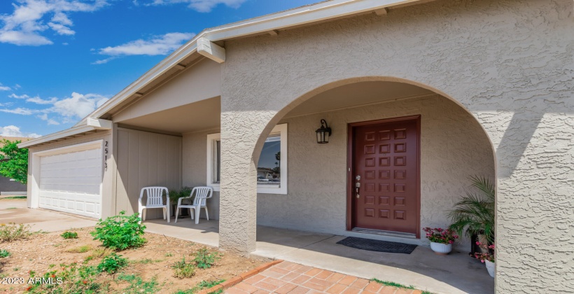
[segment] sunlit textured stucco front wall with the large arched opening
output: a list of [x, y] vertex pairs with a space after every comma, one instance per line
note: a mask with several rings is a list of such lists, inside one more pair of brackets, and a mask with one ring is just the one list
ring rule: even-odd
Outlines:
[[253, 154], [290, 108], [344, 83], [405, 80], [456, 100], [492, 141], [496, 290], [574, 291], [573, 10], [570, 0], [433, 1], [226, 42], [220, 245], [255, 248]]

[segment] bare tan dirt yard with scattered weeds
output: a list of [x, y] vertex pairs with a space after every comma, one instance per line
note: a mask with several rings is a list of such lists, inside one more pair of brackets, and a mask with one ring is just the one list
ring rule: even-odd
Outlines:
[[[62, 264], [78, 262], [78, 265], [81, 265], [84, 260], [89, 260], [87, 265], [98, 265], [104, 257], [102, 255], [105, 255], [104, 247], [100, 246], [99, 241], [92, 240], [90, 235], [92, 230], [93, 228], [71, 230], [78, 233], [78, 239], [64, 239], [60, 237], [62, 232], [49, 232], [35, 234], [24, 240], [0, 243], [0, 249], [10, 252], [7, 258], [0, 258], [0, 276], [3, 281], [0, 283], [0, 292], [26, 292], [28, 287], [26, 281], [29, 279], [30, 271], [36, 272], [36, 276], [41, 276], [45, 272], [61, 267]], [[220, 252], [221, 259], [216, 261], [214, 267], [197, 268], [195, 276], [178, 279], [173, 276], [174, 262], [181, 261], [184, 257], [187, 261], [193, 260], [197, 250], [207, 246], [151, 233], [146, 233], [144, 237], [148, 242], [143, 247], [118, 252], [130, 261], [125, 269], [113, 275], [103, 273], [98, 276], [98, 282], [109, 287], [106, 288], [106, 292], [190, 293], [189, 289], [201, 281], [230, 279], [269, 261]], [[209, 251], [217, 251], [217, 248], [209, 248]], [[140, 283], [118, 279], [120, 275], [141, 277]], [[24, 278], [25, 283], [8, 284], [6, 282], [9, 278]], [[155, 281], [155, 286], [152, 288], [142, 286], [141, 282], [149, 281]]]

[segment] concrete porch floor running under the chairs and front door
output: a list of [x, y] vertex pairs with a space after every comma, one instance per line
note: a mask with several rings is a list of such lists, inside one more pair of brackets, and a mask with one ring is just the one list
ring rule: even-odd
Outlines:
[[[218, 221], [190, 218], [174, 223], [145, 221], [146, 232], [218, 246]], [[345, 236], [258, 226], [253, 255], [297, 262], [365, 279], [412, 285], [432, 293], [493, 293], [494, 279], [484, 264], [456, 249], [447, 256], [417, 246], [411, 254], [380, 253], [336, 244]]]

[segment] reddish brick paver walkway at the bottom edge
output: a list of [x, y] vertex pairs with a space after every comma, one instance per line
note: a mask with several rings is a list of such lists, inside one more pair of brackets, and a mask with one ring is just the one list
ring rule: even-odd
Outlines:
[[420, 294], [421, 291], [383, 286], [380, 283], [360, 279], [356, 276], [347, 276], [338, 272], [283, 261], [228, 288], [225, 293]]

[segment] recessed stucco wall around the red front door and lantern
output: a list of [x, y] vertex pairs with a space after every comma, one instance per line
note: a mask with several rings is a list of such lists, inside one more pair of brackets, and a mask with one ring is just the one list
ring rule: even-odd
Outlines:
[[[445, 228], [447, 211], [469, 190], [468, 176], [494, 179], [494, 158], [475, 118], [437, 94], [281, 120], [288, 124], [288, 195], [258, 194], [258, 224], [349, 235], [347, 124], [413, 115], [421, 115], [421, 228]], [[333, 130], [329, 144], [316, 143], [321, 118]]]

